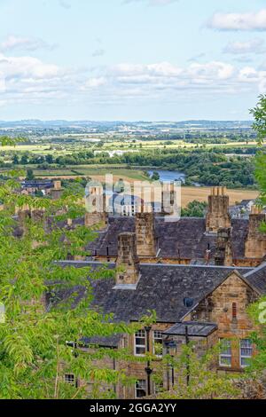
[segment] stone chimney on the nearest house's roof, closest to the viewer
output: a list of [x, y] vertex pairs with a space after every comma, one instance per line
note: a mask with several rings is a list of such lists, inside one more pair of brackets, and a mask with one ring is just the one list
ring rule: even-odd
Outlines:
[[134, 289], [139, 279], [136, 234], [124, 232], [118, 236], [118, 256], [116, 261], [116, 287]]

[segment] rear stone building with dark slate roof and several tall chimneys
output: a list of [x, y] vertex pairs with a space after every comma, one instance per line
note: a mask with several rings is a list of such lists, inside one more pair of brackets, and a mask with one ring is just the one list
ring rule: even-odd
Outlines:
[[265, 233], [259, 229], [265, 221], [266, 215], [255, 206], [249, 219], [231, 219], [225, 188], [215, 187], [208, 197], [206, 218], [181, 217], [166, 222], [153, 212], [137, 213], [135, 217], [109, 216], [106, 228], [99, 231], [86, 251], [94, 260], [115, 262], [118, 235], [136, 232], [140, 263], [255, 267], [266, 256]]

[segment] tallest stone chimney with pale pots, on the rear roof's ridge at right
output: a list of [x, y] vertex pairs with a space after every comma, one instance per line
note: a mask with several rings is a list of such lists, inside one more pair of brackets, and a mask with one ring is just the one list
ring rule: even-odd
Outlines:
[[225, 193], [225, 187], [213, 187], [211, 195], [208, 196], [208, 209], [206, 216], [207, 233], [217, 233], [221, 228], [231, 228], [229, 196]]

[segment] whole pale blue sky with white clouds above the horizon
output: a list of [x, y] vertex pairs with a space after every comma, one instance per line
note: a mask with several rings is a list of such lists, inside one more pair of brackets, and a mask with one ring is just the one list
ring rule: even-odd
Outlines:
[[265, 0], [0, 0], [0, 120], [246, 120]]

